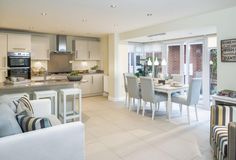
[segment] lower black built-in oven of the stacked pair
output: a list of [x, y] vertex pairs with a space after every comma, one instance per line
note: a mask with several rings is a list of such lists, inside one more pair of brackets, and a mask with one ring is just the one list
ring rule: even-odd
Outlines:
[[30, 67], [15, 67], [8, 69], [8, 77], [23, 77], [25, 79], [31, 78]]

